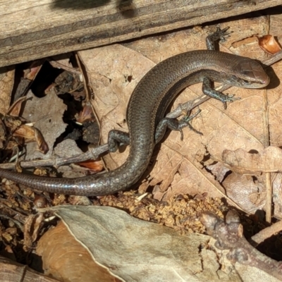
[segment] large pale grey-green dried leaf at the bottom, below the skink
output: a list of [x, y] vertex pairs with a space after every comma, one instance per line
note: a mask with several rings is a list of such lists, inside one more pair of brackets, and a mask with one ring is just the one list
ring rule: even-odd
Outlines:
[[[211, 240], [207, 235], [179, 235], [171, 228], [134, 219], [111, 207], [52, 209], [94, 261], [122, 281], [251, 281], [250, 277], [258, 274], [264, 281], [276, 281], [248, 266], [234, 271], [212, 243], [205, 247]], [[242, 280], [241, 272], [247, 271], [249, 276]]]

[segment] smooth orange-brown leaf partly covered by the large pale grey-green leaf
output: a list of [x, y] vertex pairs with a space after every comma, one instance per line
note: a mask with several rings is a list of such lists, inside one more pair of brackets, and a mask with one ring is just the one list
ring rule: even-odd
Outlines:
[[42, 256], [43, 269], [60, 281], [106, 282], [118, 281], [75, 240], [61, 222], [40, 238], [37, 255]]

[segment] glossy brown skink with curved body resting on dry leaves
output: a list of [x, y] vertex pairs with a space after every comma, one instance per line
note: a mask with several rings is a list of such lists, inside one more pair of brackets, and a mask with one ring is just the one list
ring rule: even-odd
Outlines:
[[[217, 39], [226, 30], [218, 30]], [[189, 85], [203, 82], [203, 92], [232, 102], [233, 96], [212, 90], [210, 82], [223, 82], [245, 88], [261, 88], [269, 84], [269, 77], [257, 61], [219, 51], [188, 51], [168, 58], [154, 66], [135, 87], [127, 112], [129, 134], [112, 130], [110, 151], [116, 150], [116, 140], [130, 144], [125, 164], [107, 173], [82, 178], [47, 178], [30, 176], [0, 168], [0, 177], [8, 178], [30, 188], [67, 195], [97, 196], [125, 190], [137, 182], [145, 172], [154, 146], [161, 140], [166, 127], [181, 130], [188, 123], [164, 118], [166, 108], [176, 95]]]

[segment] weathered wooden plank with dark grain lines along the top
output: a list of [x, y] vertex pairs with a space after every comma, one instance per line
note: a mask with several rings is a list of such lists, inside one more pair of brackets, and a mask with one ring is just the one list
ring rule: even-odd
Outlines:
[[281, 4], [282, 0], [0, 0], [0, 66]]

